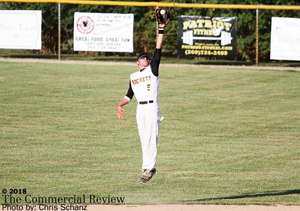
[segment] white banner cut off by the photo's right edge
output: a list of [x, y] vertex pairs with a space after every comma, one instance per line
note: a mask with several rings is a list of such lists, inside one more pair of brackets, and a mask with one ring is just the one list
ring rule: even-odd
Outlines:
[[272, 17], [270, 59], [300, 61], [300, 19]]

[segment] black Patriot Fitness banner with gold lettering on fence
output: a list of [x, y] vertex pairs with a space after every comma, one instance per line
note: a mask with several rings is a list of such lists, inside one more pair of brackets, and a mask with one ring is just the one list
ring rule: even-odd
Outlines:
[[236, 53], [236, 17], [179, 16], [179, 56], [234, 59]]

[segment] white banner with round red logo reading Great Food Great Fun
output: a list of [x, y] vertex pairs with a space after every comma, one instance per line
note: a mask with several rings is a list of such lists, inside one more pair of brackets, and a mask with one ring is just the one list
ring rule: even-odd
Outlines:
[[74, 51], [133, 52], [133, 14], [74, 14]]

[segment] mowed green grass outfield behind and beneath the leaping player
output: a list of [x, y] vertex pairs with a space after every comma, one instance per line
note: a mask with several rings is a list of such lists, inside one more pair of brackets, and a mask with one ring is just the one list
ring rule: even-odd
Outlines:
[[140, 185], [135, 99], [116, 108], [136, 68], [0, 62], [0, 189], [300, 205], [300, 72], [162, 66], [157, 173]]

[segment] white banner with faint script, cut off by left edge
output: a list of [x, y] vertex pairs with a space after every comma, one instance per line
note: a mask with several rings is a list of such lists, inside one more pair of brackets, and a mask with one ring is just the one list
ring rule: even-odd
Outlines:
[[0, 48], [42, 48], [42, 11], [0, 10]]

